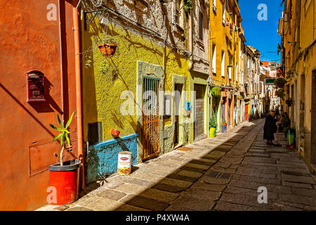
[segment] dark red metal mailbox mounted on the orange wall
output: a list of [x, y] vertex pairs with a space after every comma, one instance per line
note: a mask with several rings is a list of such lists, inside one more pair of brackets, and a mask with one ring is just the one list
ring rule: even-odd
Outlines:
[[44, 102], [44, 74], [37, 70], [27, 72], [27, 102]]

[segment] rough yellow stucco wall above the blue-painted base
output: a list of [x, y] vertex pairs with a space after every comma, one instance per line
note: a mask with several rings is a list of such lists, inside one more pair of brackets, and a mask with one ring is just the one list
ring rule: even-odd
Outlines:
[[[82, 27], [83, 28], [83, 27]], [[187, 60], [175, 51], [164, 48], [155, 41], [129, 31], [128, 28], [109, 25], [108, 37], [117, 44], [114, 56], [105, 58], [100, 54], [98, 44], [105, 39], [105, 26], [96, 18], [82, 33], [82, 68], [83, 68], [83, 105], [84, 105], [84, 140], [87, 141], [88, 123], [102, 122], [103, 141], [112, 139], [111, 129], [121, 131], [120, 136], [136, 133], [137, 116], [121, 115], [120, 99], [122, 91], [129, 90], [136, 100], [137, 61], [141, 60], [155, 65], [166, 64], [165, 89], [172, 90], [172, 74], [190, 76]], [[91, 60], [90, 65], [89, 60]], [[102, 63], [108, 71], [100, 72]], [[114, 79], [117, 75], [117, 79]], [[188, 79], [187, 79], [188, 80]], [[166, 121], [170, 123], [170, 121]]]

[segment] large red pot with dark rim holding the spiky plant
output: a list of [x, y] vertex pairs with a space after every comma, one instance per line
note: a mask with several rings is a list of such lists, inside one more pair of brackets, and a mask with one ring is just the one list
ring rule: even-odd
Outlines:
[[80, 160], [69, 160], [60, 166], [60, 163], [49, 166], [49, 186], [55, 190], [51, 194], [51, 205], [65, 205], [78, 198]]

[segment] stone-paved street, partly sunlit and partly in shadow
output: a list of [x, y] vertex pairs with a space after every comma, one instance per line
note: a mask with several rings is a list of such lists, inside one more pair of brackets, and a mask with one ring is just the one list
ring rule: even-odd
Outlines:
[[[136, 165], [130, 176], [114, 174], [74, 203], [39, 210], [316, 210], [315, 177], [295, 150], [286, 149], [284, 134], [282, 147], [265, 145], [263, 123], [244, 122], [193, 143], [190, 151]], [[260, 204], [262, 186], [268, 203]]]

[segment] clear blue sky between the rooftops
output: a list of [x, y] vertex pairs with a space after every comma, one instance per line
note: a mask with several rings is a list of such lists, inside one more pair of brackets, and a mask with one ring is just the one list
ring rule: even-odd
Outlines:
[[[277, 33], [279, 18], [282, 17], [282, 0], [239, 0], [242, 14], [242, 27], [246, 37], [246, 45], [254, 46], [264, 54], [263, 61], [277, 61], [280, 63], [281, 53], [277, 56], [277, 44], [281, 44], [281, 37]], [[259, 4], [268, 8], [268, 20], [258, 20]]]

